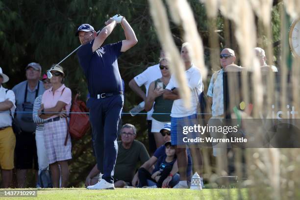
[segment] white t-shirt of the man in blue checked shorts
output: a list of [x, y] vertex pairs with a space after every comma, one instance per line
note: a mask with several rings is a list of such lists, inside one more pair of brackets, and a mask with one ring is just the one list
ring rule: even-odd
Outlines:
[[[174, 100], [171, 117], [186, 117], [197, 113], [199, 95], [203, 90], [202, 75], [200, 74], [200, 70], [195, 65], [192, 65], [190, 69], [185, 71], [185, 77], [188, 87], [191, 89], [191, 108], [187, 109], [182, 99]], [[177, 83], [175, 76], [172, 75], [166, 89], [172, 90], [172, 88], [179, 87], [180, 85]]]

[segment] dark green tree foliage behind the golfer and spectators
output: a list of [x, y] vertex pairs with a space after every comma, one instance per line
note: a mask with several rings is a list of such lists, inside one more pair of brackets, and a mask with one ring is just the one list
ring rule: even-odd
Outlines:
[[[209, 34], [206, 10], [199, 0], [189, 0], [203, 40], [205, 60], [209, 65]], [[75, 37], [78, 25], [88, 23], [99, 30], [104, 22], [120, 13], [132, 25], [138, 44], [125, 52], [119, 59], [119, 68], [125, 80], [125, 106], [123, 123], [136, 125], [138, 140], [148, 145], [146, 116], [131, 117], [126, 114], [141, 99], [128, 87], [128, 82], [147, 67], [157, 63], [160, 45], [152, 23], [147, 0], [0, 0], [0, 67], [9, 75], [5, 87], [12, 88], [25, 80], [25, 66], [30, 62], [42, 65], [43, 71], [58, 63], [77, 48], [80, 43]], [[223, 18], [216, 20], [221, 31], [220, 43], [224, 43]], [[170, 21], [176, 45], [181, 40], [181, 27]], [[159, 30], [158, 30], [159, 31]], [[105, 43], [125, 39], [123, 29], [118, 25]], [[218, 58], [217, 58], [218, 59]], [[85, 100], [87, 85], [76, 55], [61, 64], [67, 72], [65, 84], [79, 91]], [[93, 156], [91, 136], [73, 141], [70, 186], [83, 184], [89, 170], [96, 163]]]

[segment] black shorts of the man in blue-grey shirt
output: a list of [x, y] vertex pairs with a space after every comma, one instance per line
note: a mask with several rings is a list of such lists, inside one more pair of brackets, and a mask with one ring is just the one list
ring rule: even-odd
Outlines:
[[15, 153], [16, 169], [38, 170], [38, 158], [34, 133], [22, 131], [20, 134], [16, 134]]

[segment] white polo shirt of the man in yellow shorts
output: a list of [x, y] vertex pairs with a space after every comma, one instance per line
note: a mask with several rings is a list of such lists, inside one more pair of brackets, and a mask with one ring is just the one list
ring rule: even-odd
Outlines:
[[[5, 101], [6, 99], [10, 100], [13, 103], [13, 106], [11, 107], [10, 111], [13, 113], [15, 112], [16, 109], [16, 100], [15, 100], [15, 94], [12, 90], [7, 90], [7, 93], [5, 92], [7, 89], [3, 88], [2, 86], [0, 87], [0, 102]], [[6, 126], [11, 126], [11, 116], [9, 110], [6, 111], [1, 111], [0, 112], [0, 127], [6, 127]]]

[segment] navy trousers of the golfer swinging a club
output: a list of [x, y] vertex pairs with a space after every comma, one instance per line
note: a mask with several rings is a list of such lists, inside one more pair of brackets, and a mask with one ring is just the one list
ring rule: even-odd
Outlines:
[[90, 98], [90, 122], [98, 170], [102, 178], [114, 183], [113, 175], [118, 153], [118, 125], [124, 105], [124, 96], [115, 95], [103, 99]]

